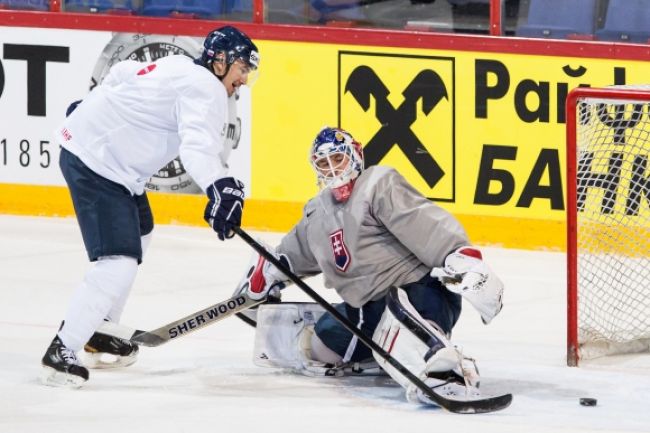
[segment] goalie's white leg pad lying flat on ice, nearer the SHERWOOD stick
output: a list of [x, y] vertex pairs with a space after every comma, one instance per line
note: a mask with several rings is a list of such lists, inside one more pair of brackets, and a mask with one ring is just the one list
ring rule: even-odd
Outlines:
[[322, 343], [314, 325], [325, 313], [315, 303], [264, 304], [257, 311], [253, 363], [290, 368], [307, 376], [379, 374], [372, 363], [343, 363]]

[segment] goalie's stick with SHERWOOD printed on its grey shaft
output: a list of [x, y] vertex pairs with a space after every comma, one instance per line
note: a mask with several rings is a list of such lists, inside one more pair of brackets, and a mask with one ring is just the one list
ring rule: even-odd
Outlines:
[[131, 340], [142, 346], [156, 347], [176, 338], [183, 337], [190, 332], [212, 325], [215, 322], [261, 304], [264, 301], [264, 299], [254, 301], [245, 294], [240, 294], [152, 331], [142, 331], [129, 328], [119, 323], [104, 322], [97, 332], [124, 340]]

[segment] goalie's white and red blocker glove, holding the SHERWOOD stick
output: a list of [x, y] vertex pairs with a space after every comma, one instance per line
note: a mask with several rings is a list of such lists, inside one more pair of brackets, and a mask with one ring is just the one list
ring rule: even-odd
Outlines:
[[[293, 272], [289, 258], [286, 255], [278, 254], [273, 248], [266, 245], [264, 245], [264, 248]], [[258, 253], [254, 253], [246, 276], [239, 283], [235, 293], [245, 293], [255, 301], [264, 299], [267, 296], [279, 299], [280, 290], [285, 288], [288, 282], [289, 278], [282, 271]]]

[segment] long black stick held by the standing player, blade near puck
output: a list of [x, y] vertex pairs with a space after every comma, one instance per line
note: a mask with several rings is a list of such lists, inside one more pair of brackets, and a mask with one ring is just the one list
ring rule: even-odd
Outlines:
[[234, 232], [241, 237], [244, 242], [253, 247], [261, 256], [266, 260], [271, 262], [276, 268], [278, 268], [282, 273], [284, 273], [291, 281], [293, 281], [303, 292], [309, 295], [316, 303], [330, 313], [334, 318], [341, 323], [348, 331], [355, 335], [359, 341], [365, 344], [370, 350], [377, 353], [382, 359], [392, 365], [397, 371], [404, 375], [413, 385], [415, 385], [424, 395], [426, 395], [431, 401], [436, 403], [438, 406], [454, 413], [486, 413], [493, 412], [496, 410], [505, 409], [512, 402], [512, 394], [504, 394], [496, 397], [486, 397], [477, 400], [456, 400], [451, 398], [446, 398], [442, 395], [436, 394], [431, 388], [429, 388], [420, 378], [411, 373], [409, 369], [404, 367], [399, 361], [393, 358], [388, 352], [382, 349], [377, 343], [375, 343], [372, 338], [369, 338], [367, 335], [362, 333], [359, 329], [354, 326], [345, 316], [339, 313], [330, 303], [323, 299], [318, 293], [316, 293], [311, 287], [309, 287], [304, 281], [300, 279], [296, 274], [291, 272], [290, 269], [287, 269], [286, 266], [276, 259], [273, 254], [269, 253], [266, 248], [260, 245], [255, 239], [250, 237], [242, 228], [235, 227], [233, 228]]

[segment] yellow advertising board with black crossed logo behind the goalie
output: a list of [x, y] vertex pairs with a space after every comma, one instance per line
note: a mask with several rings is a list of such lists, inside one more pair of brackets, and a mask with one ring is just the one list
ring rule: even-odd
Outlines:
[[650, 62], [616, 59], [260, 45], [254, 199], [307, 201], [317, 191], [309, 145], [322, 126], [340, 126], [364, 144], [367, 165], [397, 168], [478, 242], [519, 247], [564, 247], [569, 90], [650, 76]]

